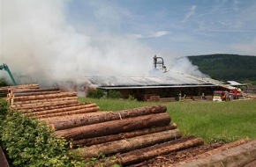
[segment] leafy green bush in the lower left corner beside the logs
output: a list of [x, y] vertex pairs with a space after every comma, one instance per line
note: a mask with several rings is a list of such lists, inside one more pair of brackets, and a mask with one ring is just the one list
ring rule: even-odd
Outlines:
[[3, 99], [0, 105], [1, 140], [10, 166], [84, 166], [72, 159], [68, 142], [53, 136], [49, 127], [20, 113], [6, 113]]

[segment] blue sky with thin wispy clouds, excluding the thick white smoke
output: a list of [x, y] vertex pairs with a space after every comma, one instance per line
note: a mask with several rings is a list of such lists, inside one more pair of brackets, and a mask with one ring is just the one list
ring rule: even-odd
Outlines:
[[136, 38], [156, 53], [256, 54], [255, 0], [75, 0], [67, 16], [81, 32]]

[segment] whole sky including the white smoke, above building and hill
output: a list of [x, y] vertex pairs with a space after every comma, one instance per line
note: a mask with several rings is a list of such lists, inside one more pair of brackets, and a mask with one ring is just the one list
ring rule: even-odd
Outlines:
[[201, 76], [185, 56], [256, 55], [253, 0], [0, 0], [0, 5], [0, 62], [16, 75], [44, 81], [147, 76], [155, 54], [168, 69]]

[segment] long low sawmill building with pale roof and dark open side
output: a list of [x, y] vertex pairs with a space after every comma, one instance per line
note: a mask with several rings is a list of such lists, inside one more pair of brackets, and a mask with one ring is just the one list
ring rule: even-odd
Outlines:
[[[216, 84], [174, 73], [171, 76], [86, 76], [95, 88], [104, 91], [115, 90], [124, 98], [132, 96], [141, 101], [154, 98], [169, 101], [200, 98], [205, 95], [211, 98], [213, 91], [220, 89]], [[219, 81], [218, 81], [219, 82]], [[220, 82], [221, 83], [221, 82]]]

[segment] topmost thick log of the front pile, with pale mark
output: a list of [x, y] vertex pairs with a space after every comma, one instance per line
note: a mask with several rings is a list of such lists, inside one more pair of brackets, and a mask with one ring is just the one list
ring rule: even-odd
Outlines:
[[78, 115], [78, 117], [69, 118], [69, 120], [58, 120], [50, 122], [54, 124], [56, 130], [61, 130], [65, 128], [81, 127], [85, 125], [90, 125], [94, 123], [100, 123], [110, 120], [120, 120], [131, 117], [138, 117], [141, 115], [147, 115], [152, 113], [164, 113], [166, 112], [166, 106], [156, 105], [148, 107], [139, 107], [131, 110], [124, 110], [120, 112], [109, 112], [109, 113], [97, 113], [88, 115]]

